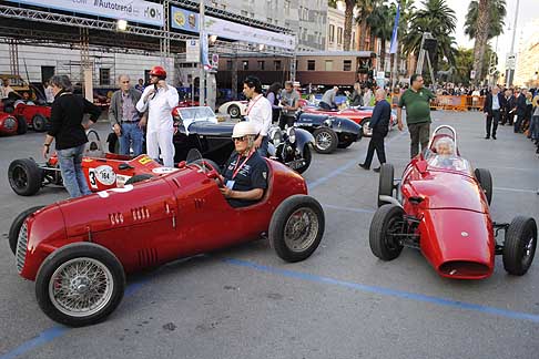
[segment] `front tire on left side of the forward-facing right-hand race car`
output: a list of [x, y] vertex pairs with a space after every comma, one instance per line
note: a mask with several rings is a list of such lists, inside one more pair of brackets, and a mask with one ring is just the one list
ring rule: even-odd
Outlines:
[[395, 230], [396, 222], [403, 219], [404, 209], [394, 204], [379, 207], [370, 222], [368, 244], [375, 256], [382, 260], [393, 260], [400, 255], [403, 246], [387, 238], [388, 230]]

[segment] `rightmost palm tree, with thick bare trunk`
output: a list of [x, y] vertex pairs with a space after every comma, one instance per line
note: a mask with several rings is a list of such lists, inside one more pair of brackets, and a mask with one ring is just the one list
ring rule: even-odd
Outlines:
[[475, 83], [484, 78], [484, 59], [488, 40], [504, 32], [504, 18], [506, 17], [505, 0], [471, 1], [466, 17], [465, 33], [474, 43]]

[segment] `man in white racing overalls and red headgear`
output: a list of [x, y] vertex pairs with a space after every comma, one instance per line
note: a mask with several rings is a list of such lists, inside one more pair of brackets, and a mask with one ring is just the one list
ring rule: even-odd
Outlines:
[[150, 85], [144, 89], [136, 103], [141, 113], [149, 111], [146, 125], [148, 155], [154, 160], [163, 157], [163, 165], [174, 167], [174, 122], [172, 109], [177, 106], [179, 95], [176, 89], [165, 82], [166, 71], [161, 66], [153, 66], [150, 71]]

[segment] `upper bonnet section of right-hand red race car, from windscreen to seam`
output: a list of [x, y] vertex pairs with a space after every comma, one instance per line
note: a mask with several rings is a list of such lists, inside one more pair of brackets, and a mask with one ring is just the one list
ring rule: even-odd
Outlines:
[[420, 180], [405, 183], [403, 194], [405, 197], [421, 197], [424, 208], [457, 208], [488, 213], [488, 204], [482, 191], [470, 176], [465, 174], [430, 172]]

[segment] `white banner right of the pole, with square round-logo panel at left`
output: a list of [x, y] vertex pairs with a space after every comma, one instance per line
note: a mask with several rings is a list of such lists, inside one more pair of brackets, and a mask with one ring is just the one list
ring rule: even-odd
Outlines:
[[[171, 7], [171, 28], [199, 33], [199, 14], [185, 9]], [[263, 43], [267, 47], [295, 50], [296, 39], [285, 33], [262, 30], [241, 23], [204, 17], [204, 31], [217, 38]]]

